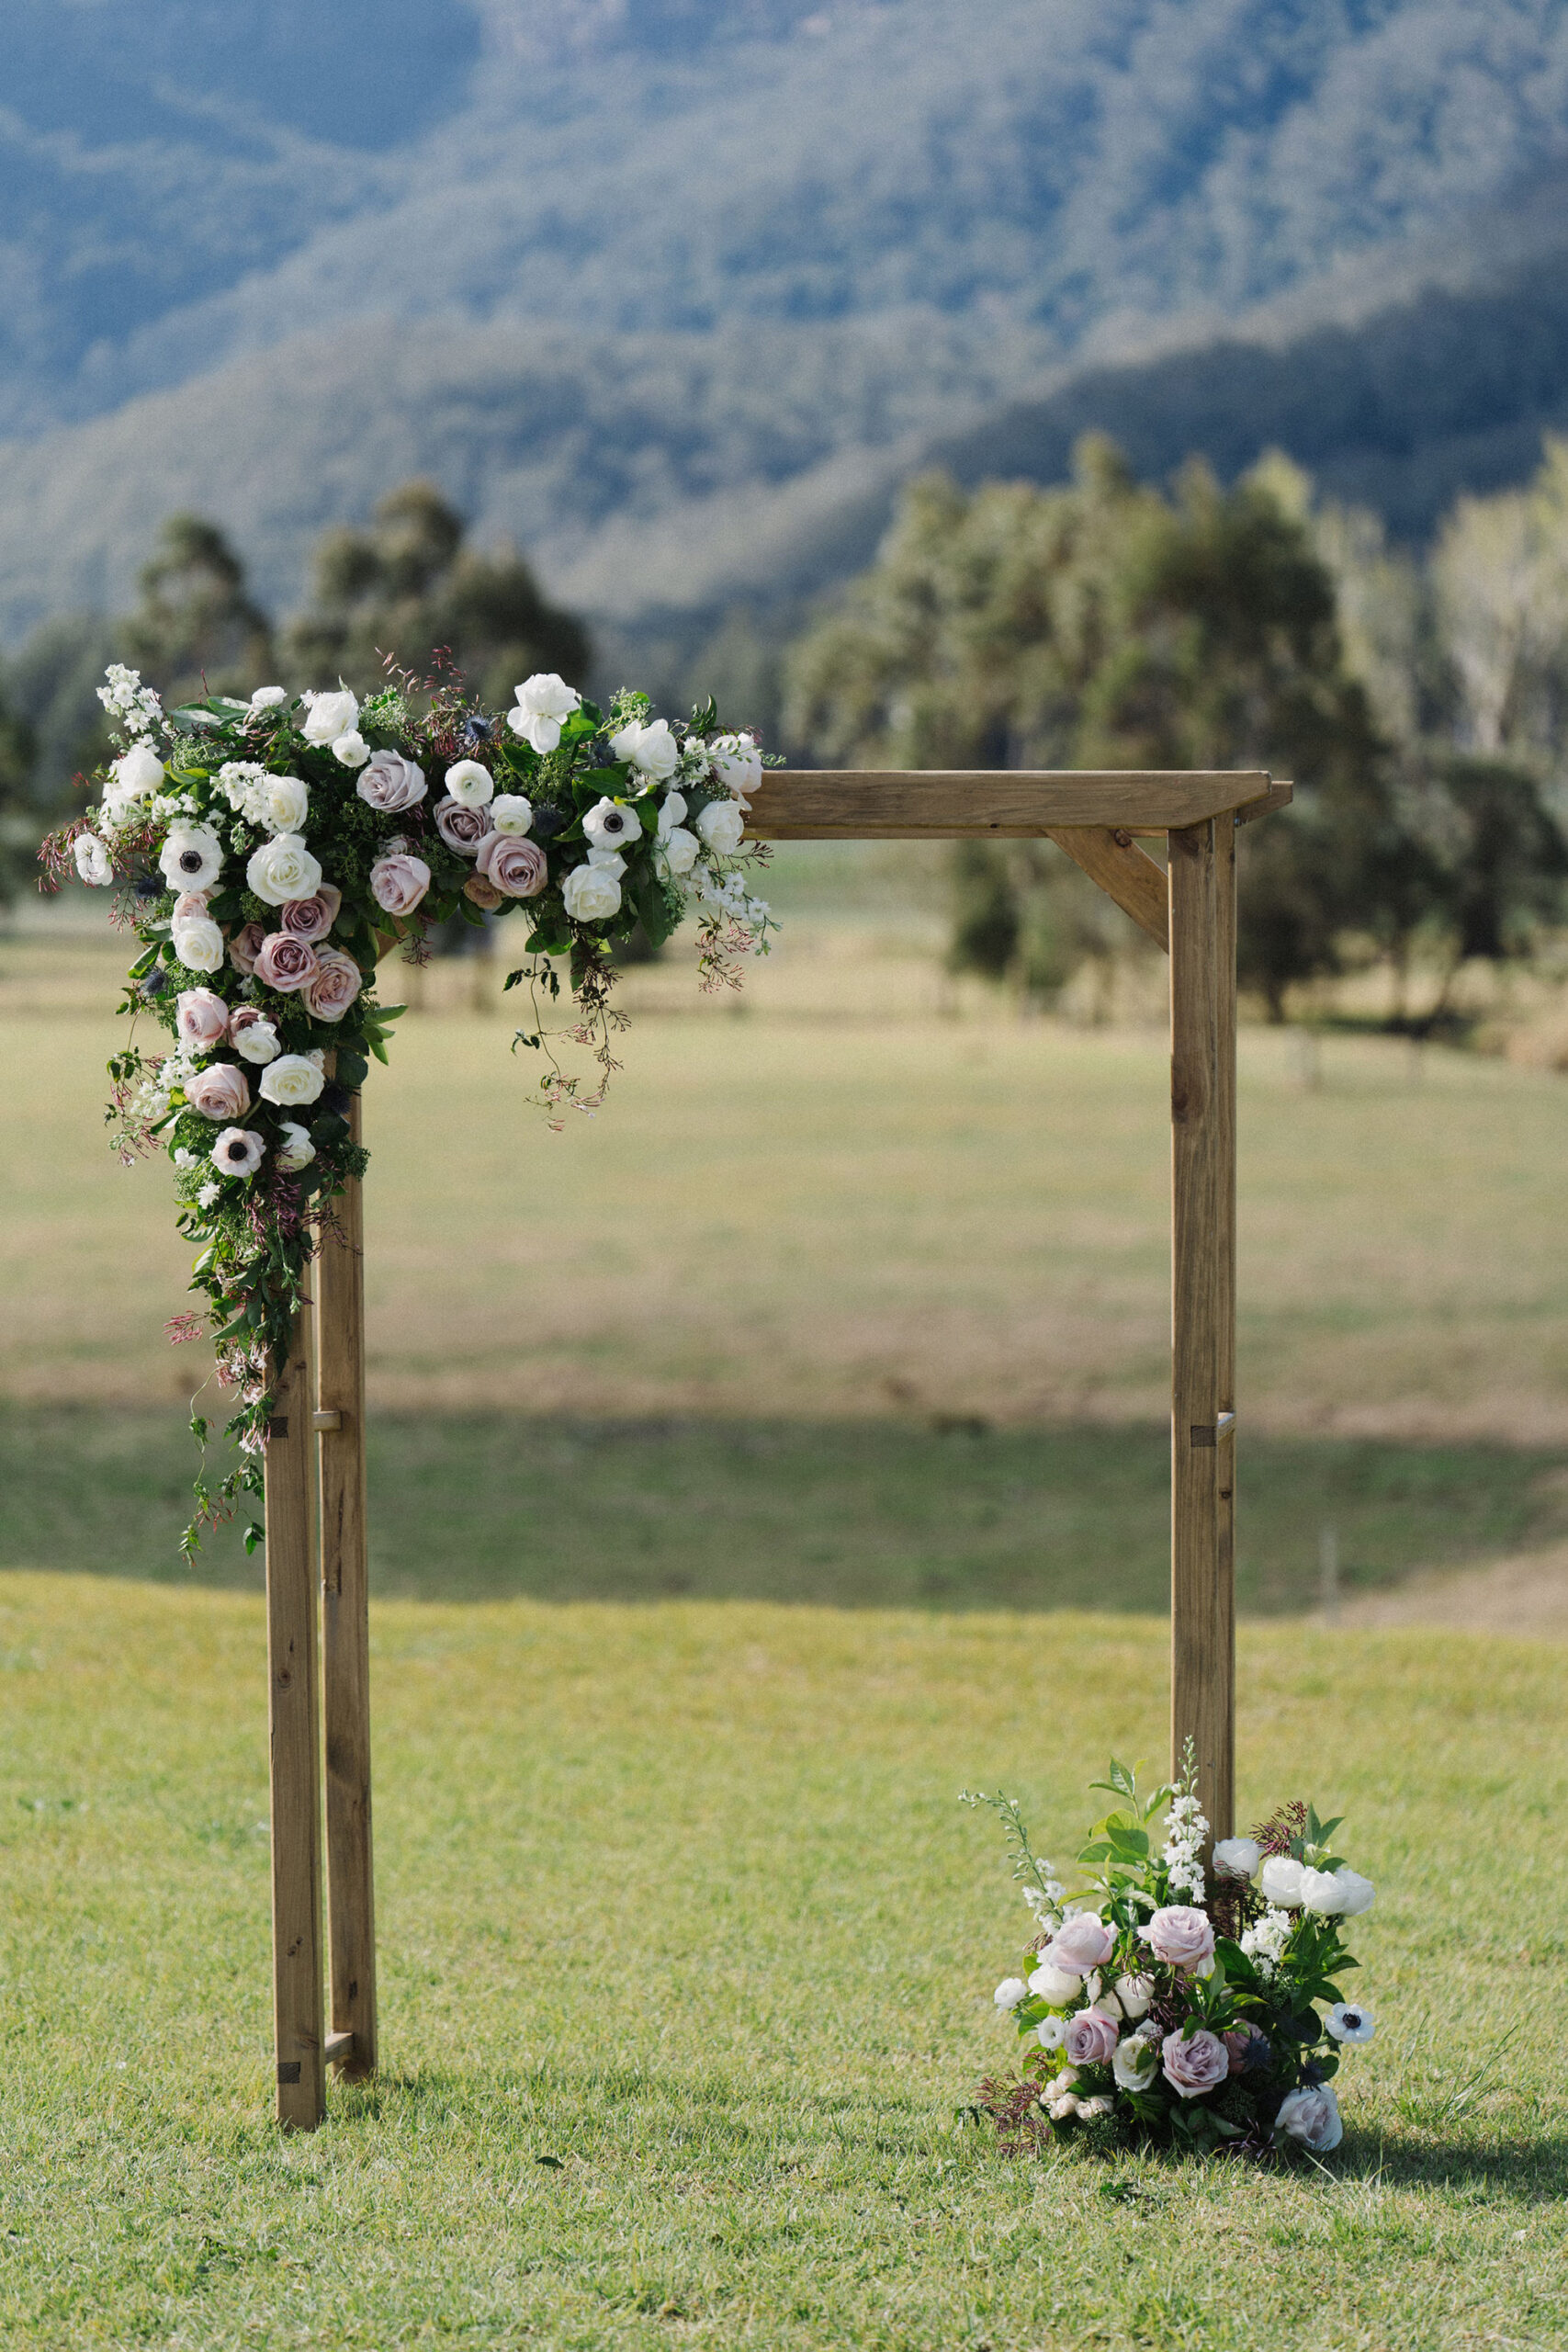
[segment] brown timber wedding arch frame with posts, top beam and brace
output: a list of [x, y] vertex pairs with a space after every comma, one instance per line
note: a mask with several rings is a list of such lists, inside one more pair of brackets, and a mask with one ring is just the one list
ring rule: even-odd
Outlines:
[[[1237, 826], [1288, 797], [1260, 769], [773, 769], [748, 821], [771, 842], [1044, 837], [1171, 957], [1171, 1752], [1192, 1738], [1215, 1837], [1237, 1715]], [[1168, 868], [1138, 835], [1166, 837]], [[277, 2119], [303, 2131], [327, 2067], [376, 2072], [362, 1272], [355, 1183], [266, 1446]]]

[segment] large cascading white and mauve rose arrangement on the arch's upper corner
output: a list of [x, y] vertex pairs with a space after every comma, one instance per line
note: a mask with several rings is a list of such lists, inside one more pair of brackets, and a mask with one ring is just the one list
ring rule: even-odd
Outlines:
[[[261, 1491], [273, 1367], [331, 1200], [364, 1171], [353, 1096], [402, 1011], [376, 997], [383, 957], [402, 946], [423, 962], [433, 924], [522, 910], [529, 962], [505, 985], [529, 988], [534, 1025], [512, 1047], [541, 1056], [555, 1127], [595, 1110], [625, 1025], [614, 950], [637, 924], [663, 946], [696, 913], [710, 988], [766, 953], [771, 915], [748, 882], [769, 851], [743, 847], [764, 760], [752, 734], [719, 731], [712, 703], [672, 727], [644, 694], [602, 713], [555, 675], [527, 677], [505, 715], [397, 670], [364, 703], [261, 687], [165, 710], [115, 666], [99, 699], [120, 753], [89, 781], [87, 816], [45, 842], [45, 887], [75, 873], [118, 894], [141, 943], [120, 1011], [172, 1037], [115, 1054], [108, 1117], [125, 1160], [174, 1162], [207, 1308], [169, 1336], [207, 1331], [237, 1395], [240, 1465], [219, 1486], [197, 1477], [193, 1548]], [[567, 1009], [550, 1028], [557, 962]], [[590, 1075], [557, 1044], [585, 1049]], [[193, 1430], [207, 1439], [202, 1416]]]

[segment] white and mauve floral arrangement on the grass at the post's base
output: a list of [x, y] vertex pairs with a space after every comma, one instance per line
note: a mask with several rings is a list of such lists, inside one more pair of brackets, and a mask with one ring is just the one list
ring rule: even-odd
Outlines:
[[1373, 2039], [1371, 2009], [1338, 1983], [1356, 1966], [1342, 1926], [1373, 1905], [1371, 1879], [1331, 1849], [1340, 1823], [1284, 1804], [1213, 1846], [1208, 1884], [1192, 1748], [1182, 1780], [1147, 1799], [1124, 1764], [1093, 1785], [1119, 1802], [1095, 1820], [1072, 1896], [1016, 1799], [964, 1795], [1001, 1816], [1037, 1926], [1025, 1976], [997, 1985], [1027, 2042], [1023, 2079], [987, 2079], [971, 2112], [1011, 2152], [1065, 2133], [1258, 2159], [1338, 2147], [1333, 2074]]

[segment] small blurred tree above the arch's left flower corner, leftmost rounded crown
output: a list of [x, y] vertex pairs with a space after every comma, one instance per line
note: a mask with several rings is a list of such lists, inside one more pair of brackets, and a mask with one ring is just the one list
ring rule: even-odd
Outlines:
[[216, 522], [169, 515], [120, 623], [122, 661], [165, 703], [249, 694], [273, 670], [273, 628], [244, 588], [244, 564]]

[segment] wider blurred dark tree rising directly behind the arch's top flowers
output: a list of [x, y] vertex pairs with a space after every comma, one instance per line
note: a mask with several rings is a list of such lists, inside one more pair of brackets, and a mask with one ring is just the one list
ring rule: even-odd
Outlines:
[[440, 649], [498, 708], [534, 670], [576, 684], [590, 661], [581, 621], [543, 597], [520, 555], [465, 548], [463, 520], [440, 492], [404, 482], [369, 532], [317, 541], [310, 607], [284, 633], [284, 668], [301, 687], [341, 677], [369, 694], [388, 654], [423, 677]]

